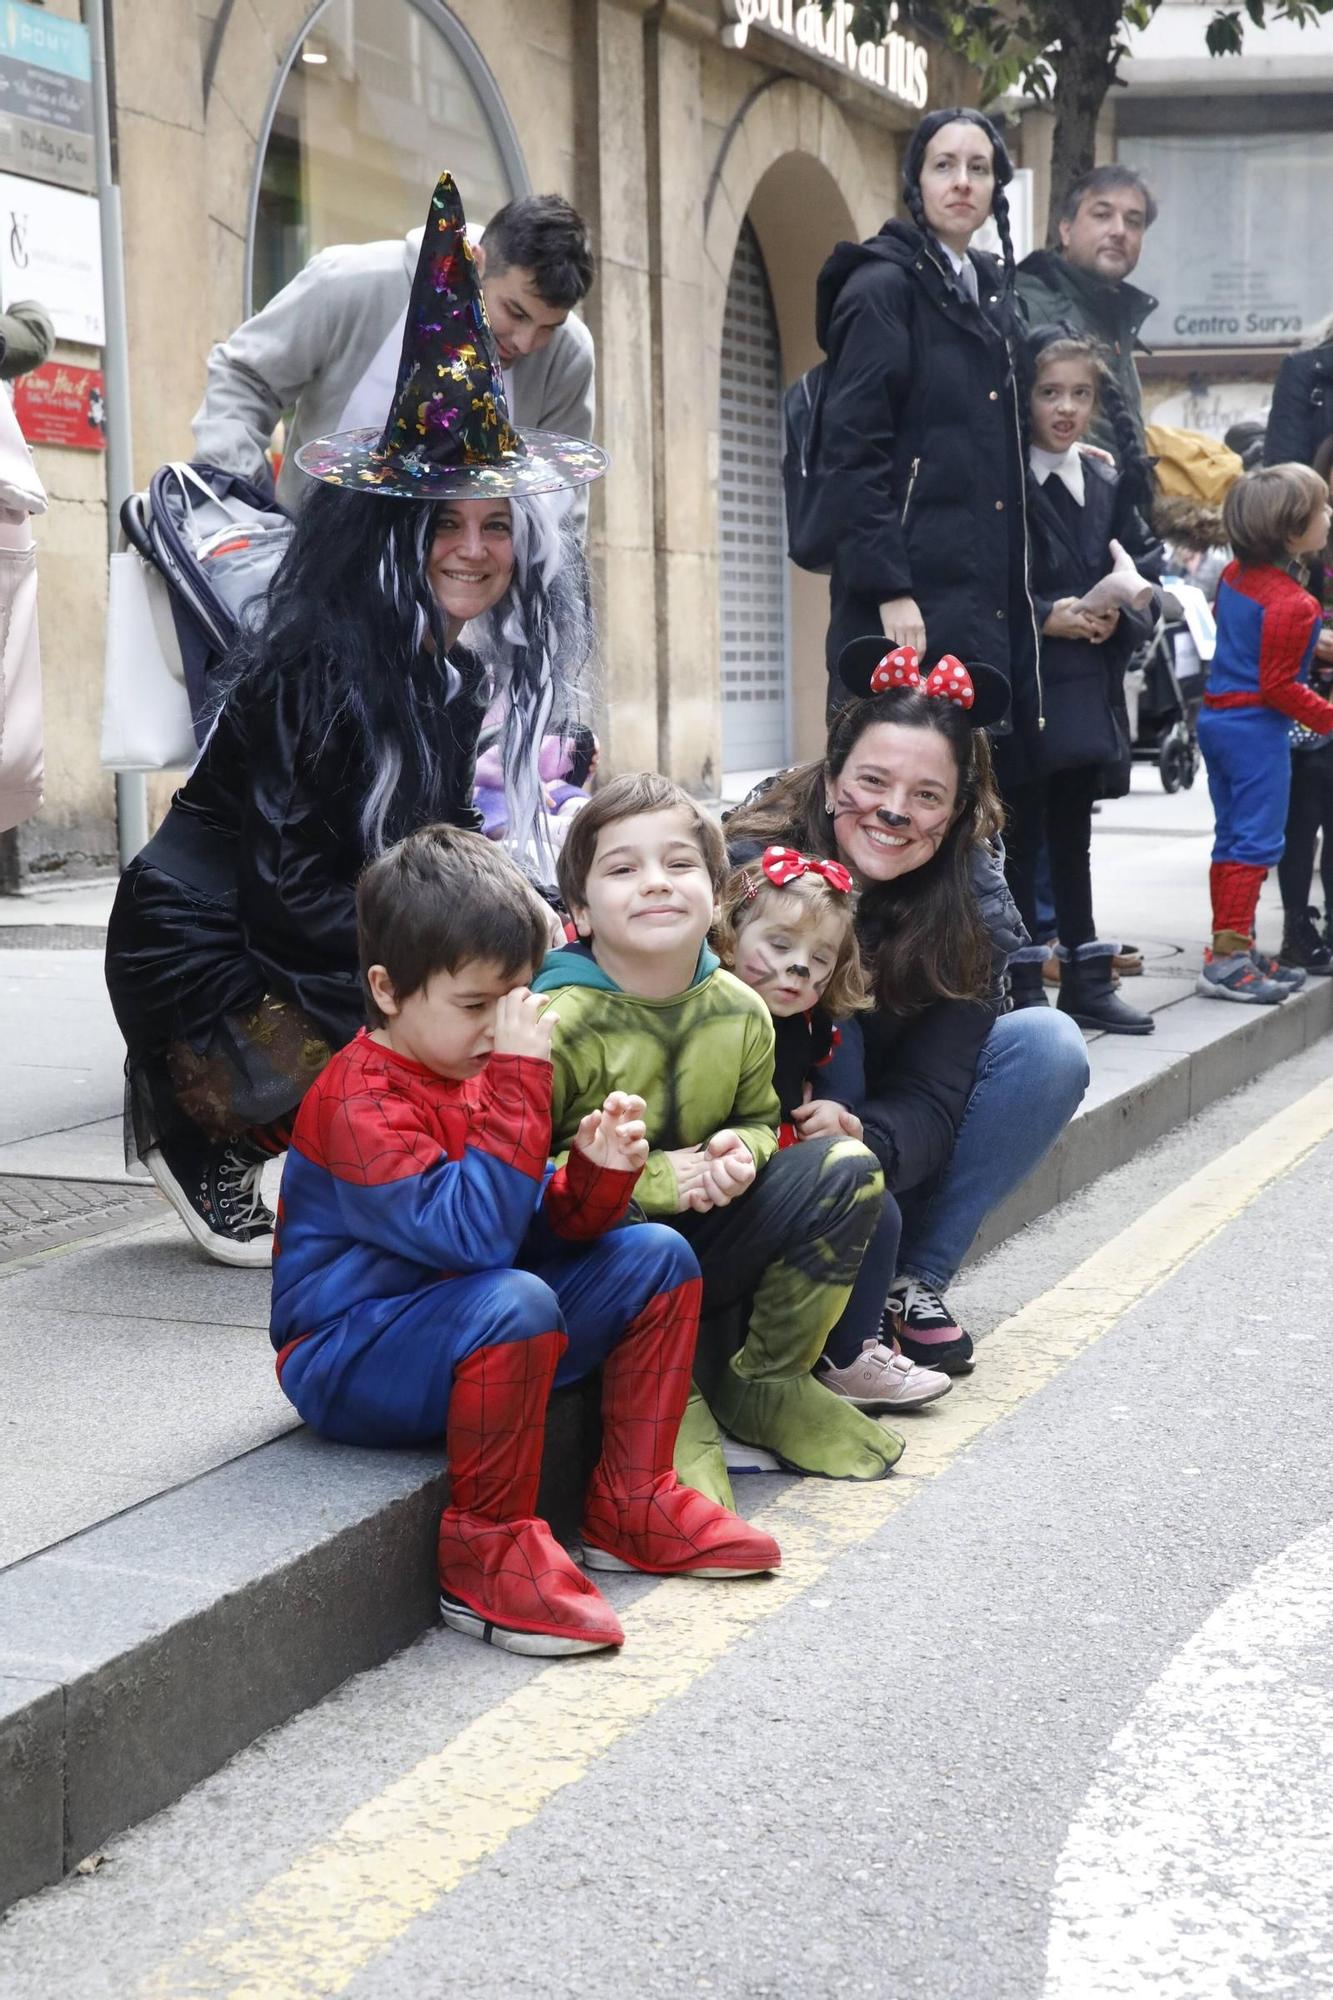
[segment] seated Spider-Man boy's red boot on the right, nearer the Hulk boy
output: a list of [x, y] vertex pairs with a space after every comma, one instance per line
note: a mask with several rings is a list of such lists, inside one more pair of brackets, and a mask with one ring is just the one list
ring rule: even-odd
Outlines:
[[757, 1576], [783, 1552], [739, 1514], [681, 1486], [671, 1458], [691, 1392], [699, 1278], [658, 1292], [602, 1366], [602, 1456], [582, 1504], [590, 1570]]

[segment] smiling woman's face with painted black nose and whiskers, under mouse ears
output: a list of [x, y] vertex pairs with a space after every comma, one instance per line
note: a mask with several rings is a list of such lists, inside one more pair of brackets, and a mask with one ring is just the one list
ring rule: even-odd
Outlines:
[[959, 804], [959, 768], [931, 728], [873, 722], [835, 778], [825, 772], [839, 858], [861, 882], [895, 882], [939, 854]]

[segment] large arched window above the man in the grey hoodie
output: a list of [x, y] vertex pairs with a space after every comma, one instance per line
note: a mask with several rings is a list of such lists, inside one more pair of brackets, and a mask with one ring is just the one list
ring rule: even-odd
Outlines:
[[328, 244], [406, 236], [442, 168], [482, 228], [528, 190], [504, 100], [440, 0], [324, 0], [274, 94], [250, 226], [264, 306]]

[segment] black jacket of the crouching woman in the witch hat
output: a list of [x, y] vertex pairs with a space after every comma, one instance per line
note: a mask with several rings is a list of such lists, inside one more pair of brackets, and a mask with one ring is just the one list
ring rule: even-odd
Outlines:
[[[484, 674], [460, 648], [450, 658], [462, 688], [440, 718], [448, 804], [410, 824], [480, 826], [470, 800]], [[178, 1038], [202, 1044], [266, 992], [296, 1002], [334, 1048], [356, 1034], [366, 790], [354, 730], [318, 720], [312, 672], [236, 688], [116, 892], [106, 978], [132, 1060]]]

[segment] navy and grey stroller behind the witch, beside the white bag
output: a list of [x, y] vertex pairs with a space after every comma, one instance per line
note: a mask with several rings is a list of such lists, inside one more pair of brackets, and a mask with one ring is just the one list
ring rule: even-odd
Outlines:
[[194, 738], [212, 720], [208, 680], [292, 540], [292, 518], [236, 472], [172, 462], [120, 508], [130, 548], [166, 584]]

